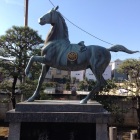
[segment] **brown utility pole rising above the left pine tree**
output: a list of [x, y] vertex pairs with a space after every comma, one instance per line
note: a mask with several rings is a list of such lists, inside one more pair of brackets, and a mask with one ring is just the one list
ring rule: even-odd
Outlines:
[[28, 26], [28, 3], [29, 0], [24, 0], [24, 10], [25, 10], [25, 15], [24, 15], [24, 26]]

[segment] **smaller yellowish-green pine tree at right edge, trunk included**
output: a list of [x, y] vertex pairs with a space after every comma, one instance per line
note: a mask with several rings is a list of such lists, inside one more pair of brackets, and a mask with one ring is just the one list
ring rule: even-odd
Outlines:
[[127, 59], [125, 60], [118, 69], [119, 72], [125, 73], [129, 76], [128, 85], [135, 86], [135, 91], [131, 89], [127, 89], [130, 92], [135, 94], [137, 100], [137, 117], [138, 117], [138, 126], [137, 126], [137, 134], [138, 139], [140, 139], [140, 60], [137, 59]]

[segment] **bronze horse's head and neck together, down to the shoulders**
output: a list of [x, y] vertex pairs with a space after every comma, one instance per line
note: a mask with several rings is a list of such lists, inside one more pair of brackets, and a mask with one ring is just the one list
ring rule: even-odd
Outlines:
[[47, 35], [45, 43], [53, 40], [68, 39], [68, 28], [65, 19], [57, 11], [58, 6], [50, 10], [47, 14], [39, 18], [39, 24], [51, 24], [52, 28]]

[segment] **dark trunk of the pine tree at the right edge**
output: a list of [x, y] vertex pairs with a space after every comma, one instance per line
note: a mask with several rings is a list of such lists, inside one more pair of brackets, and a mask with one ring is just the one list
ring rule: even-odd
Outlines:
[[137, 126], [137, 138], [140, 139], [140, 96], [137, 96], [137, 117], [138, 117], [138, 126]]

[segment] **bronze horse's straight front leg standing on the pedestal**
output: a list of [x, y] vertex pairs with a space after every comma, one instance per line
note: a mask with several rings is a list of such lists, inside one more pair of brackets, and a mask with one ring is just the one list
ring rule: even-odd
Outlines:
[[45, 79], [46, 73], [48, 72], [49, 68], [50, 68], [49, 66], [42, 64], [42, 72], [41, 72], [41, 75], [38, 80], [37, 88], [36, 88], [34, 94], [27, 100], [27, 102], [33, 102], [35, 100], [35, 98], [39, 95], [42, 83]]

